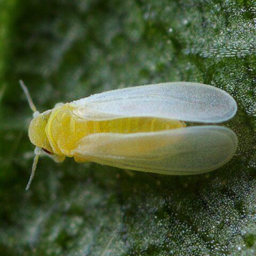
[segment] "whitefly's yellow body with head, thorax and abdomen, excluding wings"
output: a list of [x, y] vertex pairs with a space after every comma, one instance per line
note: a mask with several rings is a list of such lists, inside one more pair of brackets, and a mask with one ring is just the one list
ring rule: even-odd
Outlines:
[[73, 150], [86, 135], [95, 133], [139, 133], [156, 132], [185, 127], [181, 121], [163, 118], [131, 117], [90, 121], [78, 117], [73, 107], [67, 103], [61, 107], [45, 111], [35, 117], [29, 126], [30, 141], [63, 161], [65, 156], [74, 157], [77, 162], [89, 159], [77, 157]]

